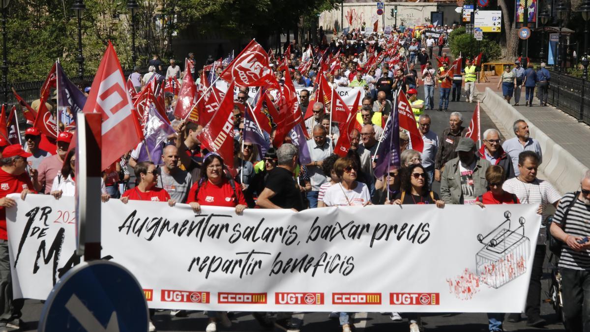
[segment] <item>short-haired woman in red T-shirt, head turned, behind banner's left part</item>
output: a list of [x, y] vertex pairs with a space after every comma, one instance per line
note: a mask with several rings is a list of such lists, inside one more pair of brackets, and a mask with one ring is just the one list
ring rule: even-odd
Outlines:
[[174, 206], [176, 201], [170, 198], [166, 190], [156, 187], [158, 172], [156, 165], [151, 161], [138, 162], [135, 165], [135, 176], [140, 179], [135, 188], [123, 193], [121, 201], [125, 204], [129, 200], [138, 201], [167, 201], [169, 206]]

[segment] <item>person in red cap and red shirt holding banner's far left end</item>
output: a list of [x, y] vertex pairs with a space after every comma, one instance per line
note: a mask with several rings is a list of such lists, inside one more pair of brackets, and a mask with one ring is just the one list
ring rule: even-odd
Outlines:
[[[10, 324], [19, 326], [21, 308], [24, 300], [8, 298], [12, 294], [12, 278], [8, 255], [8, 233], [6, 233], [6, 208], [17, 206], [9, 194], [21, 194], [21, 200], [28, 193], [36, 193], [31, 178], [27, 174], [27, 158], [31, 154], [25, 152], [20, 145], [9, 145], [2, 151], [0, 159], [0, 329]], [[35, 180], [37, 175], [35, 174]]]

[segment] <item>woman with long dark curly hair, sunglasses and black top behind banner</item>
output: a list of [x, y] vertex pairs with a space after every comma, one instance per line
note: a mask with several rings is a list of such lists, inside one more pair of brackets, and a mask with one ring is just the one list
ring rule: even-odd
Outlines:
[[438, 194], [430, 190], [428, 173], [420, 164], [412, 164], [402, 168], [402, 191], [397, 194], [393, 204], [436, 204], [444, 207]]

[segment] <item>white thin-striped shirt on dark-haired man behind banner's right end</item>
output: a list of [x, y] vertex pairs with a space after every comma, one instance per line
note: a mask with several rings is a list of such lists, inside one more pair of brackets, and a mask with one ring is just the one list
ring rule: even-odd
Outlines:
[[[561, 198], [561, 195], [549, 181], [539, 180], [528, 183], [520, 181], [519, 178], [509, 178], [504, 182], [502, 188], [510, 194], [515, 194], [521, 204], [554, 204]], [[541, 224], [537, 245], [545, 245], [547, 230]]]

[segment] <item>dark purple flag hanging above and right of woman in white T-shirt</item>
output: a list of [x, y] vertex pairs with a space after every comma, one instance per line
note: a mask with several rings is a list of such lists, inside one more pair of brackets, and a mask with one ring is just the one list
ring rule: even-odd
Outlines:
[[375, 152], [375, 177], [380, 178], [389, 171], [390, 166], [399, 168], [399, 117], [398, 102], [395, 98], [395, 109], [391, 112], [385, 131], [381, 136], [381, 143]]

